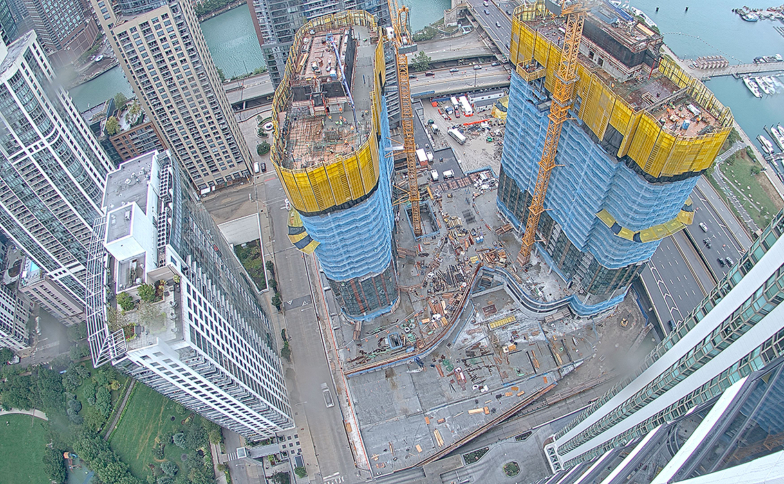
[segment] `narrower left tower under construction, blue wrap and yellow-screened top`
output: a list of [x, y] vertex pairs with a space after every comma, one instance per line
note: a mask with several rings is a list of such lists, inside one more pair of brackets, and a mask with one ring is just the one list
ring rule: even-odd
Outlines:
[[399, 300], [383, 43], [363, 10], [311, 20], [294, 36], [272, 105], [272, 161], [293, 208], [289, 238], [316, 253], [355, 320]]

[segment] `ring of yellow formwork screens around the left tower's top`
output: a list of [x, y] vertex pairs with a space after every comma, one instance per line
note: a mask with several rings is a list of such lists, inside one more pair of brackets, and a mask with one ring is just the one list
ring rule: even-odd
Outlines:
[[[282, 166], [285, 159], [285, 140], [281, 139], [279, 124], [283, 122], [286, 110], [291, 101], [290, 82], [295, 67], [296, 54], [302, 48], [304, 38], [309, 31], [324, 31], [328, 28], [351, 27], [363, 25], [375, 32], [379, 38], [375, 51], [373, 66], [374, 89], [371, 91], [372, 118], [368, 140], [356, 151], [347, 156], [336, 155], [326, 163], [315, 164], [306, 169], [289, 169]], [[379, 113], [382, 110], [381, 79], [385, 71], [383, 56], [383, 40], [380, 36], [375, 18], [363, 10], [348, 10], [318, 17], [311, 20], [297, 31], [289, 53], [283, 79], [275, 91], [273, 99], [273, 141], [271, 158], [278, 178], [283, 184], [286, 195], [292, 206], [301, 213], [318, 213], [357, 200], [368, 195], [379, 181], [379, 144], [377, 133], [380, 129]], [[360, 115], [360, 113], [358, 113]]]

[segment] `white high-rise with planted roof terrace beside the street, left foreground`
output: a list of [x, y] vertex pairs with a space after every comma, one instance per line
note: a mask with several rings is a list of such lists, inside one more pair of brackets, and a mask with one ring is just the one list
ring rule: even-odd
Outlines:
[[[174, 155], [153, 151], [122, 163], [107, 177], [103, 202], [88, 261], [93, 364], [111, 361], [249, 439], [291, 428], [270, 321]], [[107, 313], [107, 269], [127, 309], [119, 315]], [[153, 301], [139, 300], [143, 284], [154, 286]]]

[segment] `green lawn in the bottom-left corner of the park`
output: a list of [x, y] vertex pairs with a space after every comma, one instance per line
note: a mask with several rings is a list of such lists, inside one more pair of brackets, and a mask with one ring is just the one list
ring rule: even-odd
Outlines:
[[31, 422], [29, 415], [0, 417], [0, 483], [47, 484], [42, 466], [46, 443], [43, 420]]

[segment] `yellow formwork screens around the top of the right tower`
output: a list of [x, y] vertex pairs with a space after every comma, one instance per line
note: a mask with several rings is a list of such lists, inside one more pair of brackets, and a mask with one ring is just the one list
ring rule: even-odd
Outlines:
[[[515, 9], [510, 60], [517, 66], [528, 64], [532, 59], [542, 64], [546, 69], [545, 88], [552, 91], [561, 49], [524, 23], [547, 15], [541, 0]], [[729, 135], [733, 119], [729, 108], [724, 107], [702, 82], [688, 75], [669, 56], [662, 55], [659, 73], [670, 78], [678, 88], [686, 88], [688, 95], [717, 119], [712, 133], [683, 136], [663, 129], [647, 111], [630, 106], [615, 93], [615, 86], [605, 84], [591, 68], [594, 67], [577, 66], [578, 116], [600, 140], [608, 126], [622, 134], [622, 143], [614, 155], [629, 156], [645, 173], [657, 178], [695, 173], [710, 167]]]

